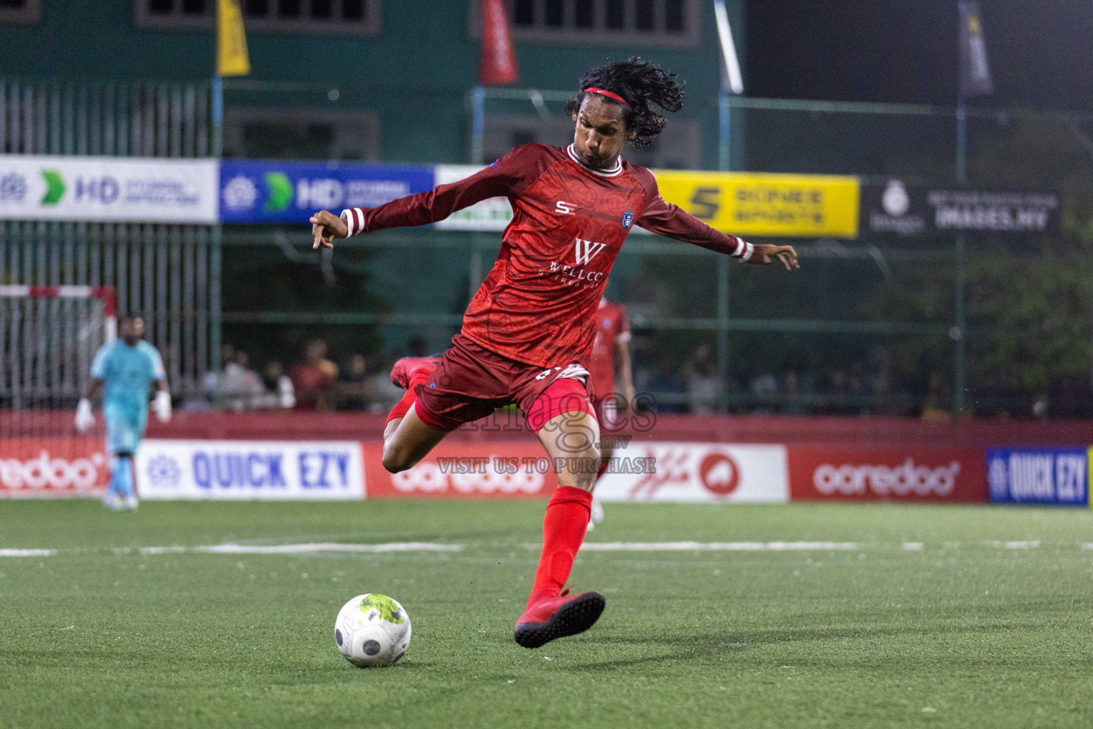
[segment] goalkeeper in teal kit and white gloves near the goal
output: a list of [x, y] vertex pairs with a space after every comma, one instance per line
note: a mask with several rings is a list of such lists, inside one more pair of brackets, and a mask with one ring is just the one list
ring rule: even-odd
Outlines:
[[119, 327], [120, 338], [104, 344], [91, 365], [91, 381], [75, 411], [75, 427], [86, 433], [95, 424], [91, 400], [99, 387], [105, 387], [103, 416], [106, 419], [106, 449], [110, 456], [110, 485], [103, 504], [109, 508], [137, 508], [133, 489], [132, 459], [148, 423], [148, 401], [152, 383], [156, 416], [171, 420], [171, 392], [167, 390], [163, 360], [154, 346], [145, 342], [144, 321], [126, 317]]

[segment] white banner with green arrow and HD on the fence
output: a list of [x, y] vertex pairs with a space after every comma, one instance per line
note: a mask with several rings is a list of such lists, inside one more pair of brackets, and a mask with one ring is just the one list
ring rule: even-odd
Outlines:
[[0, 154], [0, 220], [218, 221], [215, 160]]

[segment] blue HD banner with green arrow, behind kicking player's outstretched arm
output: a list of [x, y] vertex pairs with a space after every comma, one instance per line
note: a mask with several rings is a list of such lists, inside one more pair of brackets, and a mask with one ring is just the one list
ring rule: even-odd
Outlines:
[[433, 189], [428, 165], [317, 164], [225, 160], [220, 169], [224, 223], [306, 224], [318, 210], [375, 208]]

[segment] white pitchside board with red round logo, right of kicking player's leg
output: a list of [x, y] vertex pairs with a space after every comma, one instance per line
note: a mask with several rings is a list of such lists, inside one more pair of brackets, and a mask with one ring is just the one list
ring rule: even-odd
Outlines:
[[785, 446], [632, 440], [613, 458], [596, 484], [603, 502], [789, 501]]

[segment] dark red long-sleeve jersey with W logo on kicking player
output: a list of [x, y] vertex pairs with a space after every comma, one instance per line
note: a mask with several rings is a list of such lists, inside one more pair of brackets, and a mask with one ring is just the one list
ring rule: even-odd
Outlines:
[[748, 260], [752, 246], [668, 204], [645, 167], [584, 166], [573, 145], [518, 146], [451, 185], [378, 208], [342, 211], [350, 235], [425, 225], [494, 197], [513, 220], [467, 313], [462, 332], [503, 356], [541, 367], [588, 366], [608, 273], [634, 224]]

